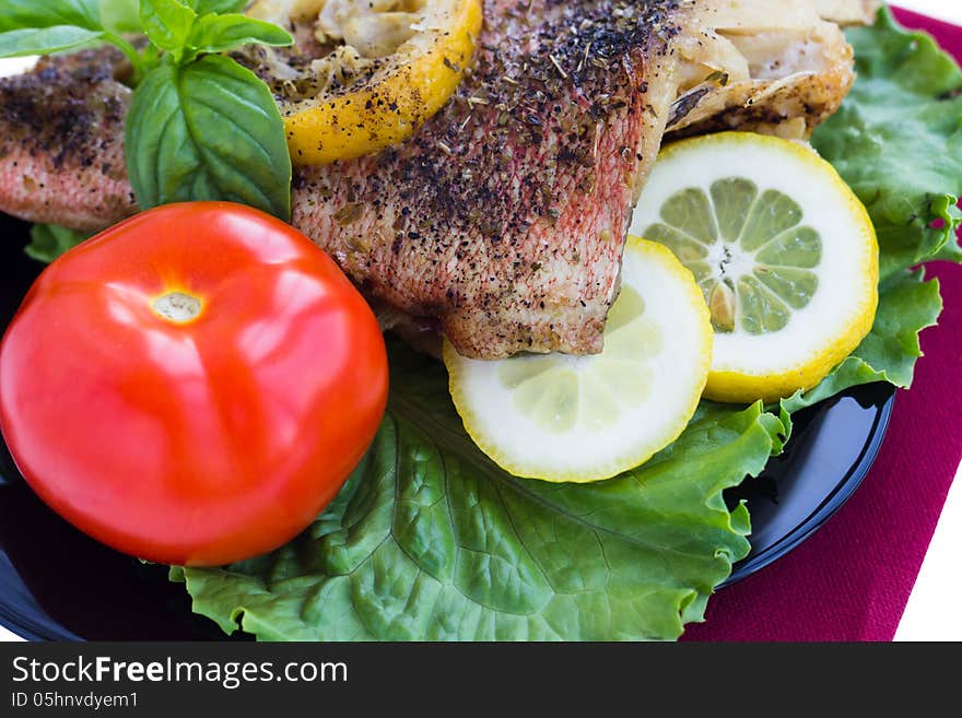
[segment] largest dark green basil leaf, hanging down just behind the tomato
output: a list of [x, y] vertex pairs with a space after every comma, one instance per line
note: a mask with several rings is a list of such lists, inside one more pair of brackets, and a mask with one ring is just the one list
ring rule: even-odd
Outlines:
[[291, 216], [291, 156], [267, 85], [208, 55], [148, 73], [127, 117], [127, 167], [143, 209], [190, 200]]

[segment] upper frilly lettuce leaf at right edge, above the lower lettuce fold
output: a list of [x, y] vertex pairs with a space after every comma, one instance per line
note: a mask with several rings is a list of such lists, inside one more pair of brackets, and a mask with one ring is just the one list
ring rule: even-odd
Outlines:
[[882, 279], [934, 257], [962, 260], [962, 70], [888, 10], [848, 39], [858, 80], [812, 143], [868, 208]]

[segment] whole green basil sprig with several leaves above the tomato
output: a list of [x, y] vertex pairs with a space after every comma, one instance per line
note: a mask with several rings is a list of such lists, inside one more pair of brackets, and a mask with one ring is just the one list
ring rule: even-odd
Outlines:
[[282, 47], [293, 38], [241, 14], [246, 5], [0, 0], [0, 57], [114, 45], [133, 67], [125, 152], [141, 209], [226, 200], [289, 220], [292, 170], [281, 114], [263, 82], [219, 54], [248, 44]]

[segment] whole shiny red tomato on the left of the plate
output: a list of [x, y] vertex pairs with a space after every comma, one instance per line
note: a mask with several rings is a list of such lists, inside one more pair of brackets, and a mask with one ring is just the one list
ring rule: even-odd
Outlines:
[[374, 314], [304, 235], [241, 205], [175, 204], [40, 275], [0, 345], [0, 429], [81, 530], [221, 565], [317, 517], [387, 386]]

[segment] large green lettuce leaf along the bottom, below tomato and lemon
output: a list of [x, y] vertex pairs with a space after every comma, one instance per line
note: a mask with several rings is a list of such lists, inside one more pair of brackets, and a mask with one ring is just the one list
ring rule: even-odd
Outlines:
[[665, 639], [702, 619], [748, 552], [722, 492], [782, 422], [705, 408], [643, 469], [587, 486], [509, 476], [464, 433], [444, 368], [395, 346], [396, 390], [363, 464], [274, 554], [175, 570], [196, 611], [261, 639]]

